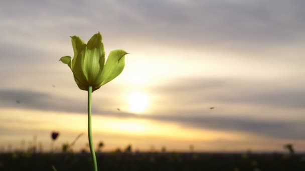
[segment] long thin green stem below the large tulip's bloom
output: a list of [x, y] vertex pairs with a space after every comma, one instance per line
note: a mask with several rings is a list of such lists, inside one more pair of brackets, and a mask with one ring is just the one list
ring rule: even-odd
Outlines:
[[88, 138], [89, 138], [89, 146], [90, 152], [93, 160], [94, 171], [97, 171], [97, 162], [95, 151], [93, 147], [93, 139], [92, 139], [92, 129], [91, 129], [91, 96], [92, 96], [92, 86], [88, 88]]

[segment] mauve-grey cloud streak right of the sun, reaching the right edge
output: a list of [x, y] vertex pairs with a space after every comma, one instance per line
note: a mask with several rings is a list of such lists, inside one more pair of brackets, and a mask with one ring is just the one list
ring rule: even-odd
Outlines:
[[257, 81], [229, 78], [179, 78], [152, 87], [154, 93], [169, 96], [175, 103], [202, 102], [265, 105], [274, 108], [305, 109], [302, 80]]

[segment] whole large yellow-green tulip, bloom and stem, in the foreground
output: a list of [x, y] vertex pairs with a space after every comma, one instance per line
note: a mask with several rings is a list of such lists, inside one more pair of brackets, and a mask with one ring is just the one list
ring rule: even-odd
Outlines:
[[97, 171], [91, 130], [92, 92], [123, 71], [125, 54], [128, 53], [122, 49], [112, 50], [105, 62], [105, 50], [100, 32], [94, 34], [87, 44], [79, 36], [74, 35], [71, 38], [74, 51], [73, 59], [71, 59], [71, 56], [63, 56], [60, 61], [70, 67], [77, 86], [88, 91], [88, 139], [94, 170]]

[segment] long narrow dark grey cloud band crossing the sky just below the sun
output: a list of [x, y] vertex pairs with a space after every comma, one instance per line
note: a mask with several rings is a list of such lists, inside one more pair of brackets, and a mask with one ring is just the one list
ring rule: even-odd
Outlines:
[[[222, 82], [222, 81], [216, 81]], [[217, 83], [216, 83], [217, 84]], [[210, 84], [211, 85], [211, 84]], [[17, 100], [20, 102], [18, 103]], [[107, 100], [104, 100], [107, 101]], [[109, 105], [111, 101], [108, 101]], [[23, 108], [42, 111], [78, 112], [86, 113], [86, 101], [75, 100], [60, 96], [54, 96], [45, 92], [18, 89], [0, 89], [0, 107], [2, 108]], [[217, 110], [217, 109], [216, 109]], [[286, 120], [281, 119], [257, 119], [249, 116], [219, 115], [214, 113], [203, 114], [201, 110], [183, 110], [179, 113], [155, 113], [137, 115], [128, 112], [116, 112], [94, 108], [97, 114], [112, 115], [118, 117], [135, 117], [169, 121], [187, 127], [200, 129], [213, 129], [220, 131], [250, 132], [258, 135], [273, 138], [305, 139], [303, 131], [305, 127], [302, 119]], [[216, 111], [217, 112], [217, 111]], [[261, 113], [260, 113], [261, 114]], [[43, 115], [43, 113], [42, 113]], [[256, 114], [257, 115], [257, 114]]]

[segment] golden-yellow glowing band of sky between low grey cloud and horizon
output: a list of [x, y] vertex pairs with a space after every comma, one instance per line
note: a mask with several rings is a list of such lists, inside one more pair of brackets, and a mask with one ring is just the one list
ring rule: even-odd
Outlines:
[[[0, 145], [13, 144], [14, 148], [20, 147], [20, 140], [31, 141], [33, 135], [37, 135], [38, 140], [46, 145], [44, 150], [49, 150], [52, 130], [61, 133], [57, 145], [70, 142], [80, 132], [86, 134], [87, 130], [87, 116], [81, 113], [27, 109], [1, 109], [0, 113], [10, 113], [0, 115], [0, 120], [3, 121], [2, 126], [5, 129], [12, 131], [12, 134], [0, 135]], [[42, 113], [44, 117], [41, 117]], [[119, 118], [98, 114], [93, 114], [92, 130], [94, 143], [103, 140], [107, 144], [105, 150], [110, 151], [130, 143], [144, 150], [149, 150], [151, 145], [156, 147], [167, 145], [169, 150], [188, 150], [189, 144], [194, 144], [196, 150], [241, 150], [249, 145], [252, 149], [265, 149], [262, 144], [282, 144], [286, 141], [286, 139], [278, 141], [251, 133], [186, 127], [161, 120]], [[74, 149], [79, 150], [87, 141], [86, 136], [82, 136]], [[240, 145], [241, 142], [244, 145]]]

